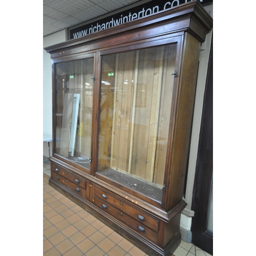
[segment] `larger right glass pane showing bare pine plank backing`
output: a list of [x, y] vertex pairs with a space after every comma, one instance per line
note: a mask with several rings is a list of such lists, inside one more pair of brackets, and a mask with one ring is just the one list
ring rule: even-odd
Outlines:
[[102, 56], [98, 168], [162, 199], [177, 45]]

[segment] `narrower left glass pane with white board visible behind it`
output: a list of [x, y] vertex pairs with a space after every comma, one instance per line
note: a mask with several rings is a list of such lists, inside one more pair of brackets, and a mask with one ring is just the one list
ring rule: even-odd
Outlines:
[[57, 63], [55, 153], [90, 169], [93, 58]]

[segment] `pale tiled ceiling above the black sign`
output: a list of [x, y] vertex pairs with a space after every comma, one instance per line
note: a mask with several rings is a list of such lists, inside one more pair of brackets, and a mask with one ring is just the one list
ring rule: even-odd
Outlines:
[[44, 36], [86, 22], [135, 2], [145, 1], [44, 0]]

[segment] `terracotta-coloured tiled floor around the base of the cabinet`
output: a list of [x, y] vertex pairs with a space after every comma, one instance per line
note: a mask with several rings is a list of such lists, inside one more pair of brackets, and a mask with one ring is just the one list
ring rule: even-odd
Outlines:
[[[147, 256], [118, 233], [49, 186], [50, 162], [44, 162], [44, 256]], [[208, 256], [181, 241], [174, 256]]]

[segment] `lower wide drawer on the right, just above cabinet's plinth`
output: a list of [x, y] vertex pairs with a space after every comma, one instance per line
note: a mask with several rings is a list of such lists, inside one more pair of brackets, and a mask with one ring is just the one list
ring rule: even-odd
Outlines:
[[99, 208], [101, 208], [105, 212], [108, 212], [108, 214], [110, 214], [115, 219], [121, 221], [121, 223], [126, 224], [128, 227], [137, 231], [137, 233], [140, 233], [143, 237], [151, 240], [154, 243], [157, 243], [158, 233], [153, 231], [151, 228], [148, 228], [147, 226], [141, 224], [139, 221], [134, 220], [130, 216], [126, 215], [124, 212], [104, 202], [98, 197], [94, 198], [94, 202]]

